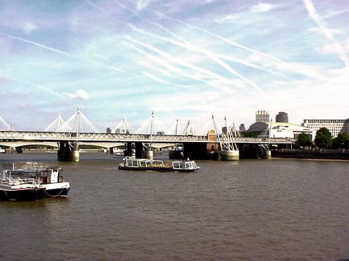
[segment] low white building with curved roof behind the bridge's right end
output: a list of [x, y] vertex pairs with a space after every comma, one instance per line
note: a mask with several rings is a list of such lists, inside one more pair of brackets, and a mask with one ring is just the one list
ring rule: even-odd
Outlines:
[[297, 139], [299, 134], [307, 134], [311, 141], [315, 139], [315, 131], [304, 126], [288, 122], [255, 122], [248, 129], [248, 132], [255, 132], [260, 138], [290, 138]]

